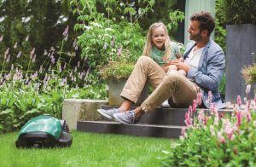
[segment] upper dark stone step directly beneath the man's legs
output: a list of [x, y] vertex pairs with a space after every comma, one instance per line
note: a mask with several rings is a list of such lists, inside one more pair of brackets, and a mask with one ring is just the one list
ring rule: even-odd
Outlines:
[[[113, 106], [102, 105], [102, 109], [113, 108]], [[135, 107], [131, 107], [134, 109]], [[201, 110], [201, 109], [199, 109]], [[204, 109], [205, 112], [210, 112], [209, 109]], [[162, 108], [158, 107], [152, 112], [148, 112], [140, 119], [139, 124], [161, 124], [161, 125], [174, 125], [185, 126], [185, 113], [188, 112], [187, 108]], [[228, 113], [232, 110], [218, 110], [219, 113]]]

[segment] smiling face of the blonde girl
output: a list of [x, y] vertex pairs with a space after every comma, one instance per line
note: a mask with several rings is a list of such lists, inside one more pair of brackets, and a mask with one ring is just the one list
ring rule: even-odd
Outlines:
[[155, 27], [152, 32], [152, 42], [157, 49], [165, 49], [166, 32], [163, 26]]

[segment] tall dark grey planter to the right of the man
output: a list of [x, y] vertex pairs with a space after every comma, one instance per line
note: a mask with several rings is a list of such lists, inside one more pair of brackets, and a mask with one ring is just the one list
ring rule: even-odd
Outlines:
[[[226, 29], [225, 101], [234, 102], [237, 95], [245, 97], [246, 83], [241, 69], [256, 63], [256, 25], [228, 25]], [[253, 91], [247, 98], [253, 98]]]

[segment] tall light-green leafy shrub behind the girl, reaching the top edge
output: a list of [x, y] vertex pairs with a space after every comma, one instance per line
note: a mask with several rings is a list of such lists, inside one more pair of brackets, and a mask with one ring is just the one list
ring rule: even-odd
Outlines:
[[[132, 60], [137, 60], [145, 42], [145, 32], [137, 21], [152, 12], [154, 3], [154, 0], [107, 1], [102, 5], [95, 0], [71, 1], [73, 13], [79, 14], [79, 23], [74, 28], [84, 31], [79, 36], [81, 56], [88, 61], [92, 70], [98, 65], [117, 60], [120, 49], [129, 50], [134, 55]], [[168, 27], [177, 28], [177, 22], [183, 17], [180, 11], [171, 13]]]

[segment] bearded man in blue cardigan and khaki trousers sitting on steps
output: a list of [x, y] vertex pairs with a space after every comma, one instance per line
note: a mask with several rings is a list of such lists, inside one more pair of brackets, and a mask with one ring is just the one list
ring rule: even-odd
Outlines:
[[[166, 75], [154, 60], [141, 56], [121, 93], [124, 98], [121, 107], [97, 111], [121, 124], [136, 124], [145, 112], [152, 111], [166, 99], [169, 99], [172, 107], [189, 107], [199, 92], [205, 107], [209, 108], [212, 102], [216, 107], [224, 108], [218, 84], [222, 78], [225, 60], [223, 50], [210, 39], [214, 26], [212, 15], [207, 12], [190, 17], [189, 39], [194, 41], [187, 45], [183, 61], [180, 59], [172, 62], [178, 70], [185, 71], [187, 77], [178, 73]], [[147, 82], [153, 83], [156, 89], [140, 107], [129, 111]], [[212, 101], [207, 101], [209, 90], [212, 91]]]

